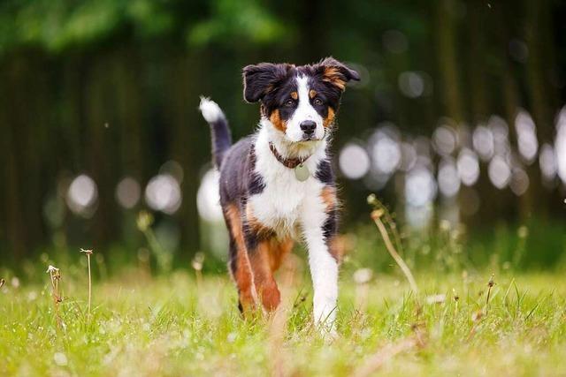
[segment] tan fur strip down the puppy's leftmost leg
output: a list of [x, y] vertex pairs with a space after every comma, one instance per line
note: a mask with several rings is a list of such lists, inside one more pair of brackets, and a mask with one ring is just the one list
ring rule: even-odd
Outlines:
[[238, 287], [241, 308], [244, 315], [253, 312], [256, 307], [254, 278], [249, 264], [248, 251], [241, 228], [240, 209], [231, 204], [226, 207], [226, 218], [230, 223], [230, 237], [236, 244], [236, 271], [233, 280]]

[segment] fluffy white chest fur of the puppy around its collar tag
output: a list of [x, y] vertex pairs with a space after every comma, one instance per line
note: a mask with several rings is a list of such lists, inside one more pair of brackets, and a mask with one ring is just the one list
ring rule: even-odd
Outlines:
[[[264, 124], [265, 125], [265, 124]], [[256, 172], [264, 180], [264, 191], [249, 198], [249, 206], [256, 219], [275, 230], [279, 237], [298, 237], [298, 228], [305, 212], [321, 208], [320, 194], [324, 184], [317, 180], [315, 173], [318, 162], [325, 158], [325, 141], [312, 146], [311, 154], [304, 165], [310, 170], [310, 177], [299, 181], [294, 170], [277, 161], [269, 149], [272, 141], [277, 147], [278, 140], [263, 126], [256, 137]]]

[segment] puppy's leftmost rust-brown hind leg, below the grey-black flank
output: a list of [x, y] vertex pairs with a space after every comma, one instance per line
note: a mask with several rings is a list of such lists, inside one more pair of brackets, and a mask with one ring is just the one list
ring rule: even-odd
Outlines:
[[238, 288], [238, 307], [245, 315], [256, 308], [256, 290], [241, 229], [241, 212], [231, 204], [225, 207], [224, 216], [230, 235], [228, 269]]

